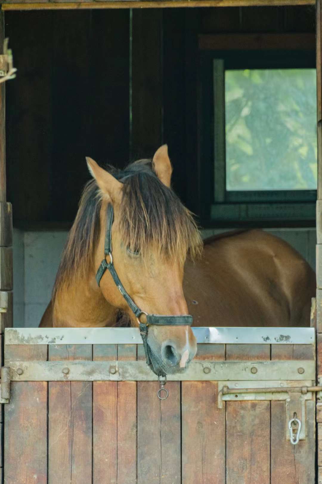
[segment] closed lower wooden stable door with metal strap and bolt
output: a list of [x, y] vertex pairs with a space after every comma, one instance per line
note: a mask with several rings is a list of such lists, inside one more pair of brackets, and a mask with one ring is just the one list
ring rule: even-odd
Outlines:
[[[72, 341], [66, 330], [61, 336]], [[291, 403], [286, 393], [235, 394], [314, 384], [314, 344], [198, 345], [196, 381], [168, 381], [169, 396], [160, 401], [157, 381], [111, 381], [133, 368], [138, 379], [154, 378], [142, 345], [17, 342], [23, 339], [4, 348], [12, 379], [5, 484], [315, 483], [314, 393], [293, 402], [292, 393]], [[224, 395], [223, 385], [234, 394]], [[297, 445], [287, 430], [294, 411], [305, 425]]]

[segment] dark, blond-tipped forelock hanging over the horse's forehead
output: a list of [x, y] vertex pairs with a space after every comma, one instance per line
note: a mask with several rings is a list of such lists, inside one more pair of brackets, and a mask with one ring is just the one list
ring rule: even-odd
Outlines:
[[151, 251], [181, 262], [188, 253], [200, 255], [202, 242], [192, 213], [157, 178], [151, 160], [133, 163], [118, 179], [124, 183], [118, 229], [130, 251], [139, 250], [144, 262]]

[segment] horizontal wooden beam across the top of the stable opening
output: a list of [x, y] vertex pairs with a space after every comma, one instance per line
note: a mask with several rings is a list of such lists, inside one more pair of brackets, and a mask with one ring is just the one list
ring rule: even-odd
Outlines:
[[8, 10], [76, 10], [105, 8], [175, 8], [175, 7], [249, 7], [314, 5], [314, 0], [156, 0], [156, 1], [107, 1], [66, 3], [3, 3], [1, 9]]

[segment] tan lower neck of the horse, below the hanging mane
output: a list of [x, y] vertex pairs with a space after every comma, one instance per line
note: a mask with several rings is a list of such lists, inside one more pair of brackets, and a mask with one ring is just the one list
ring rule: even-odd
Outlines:
[[116, 321], [117, 308], [106, 301], [95, 276], [58, 288], [53, 302], [55, 327], [103, 327]]

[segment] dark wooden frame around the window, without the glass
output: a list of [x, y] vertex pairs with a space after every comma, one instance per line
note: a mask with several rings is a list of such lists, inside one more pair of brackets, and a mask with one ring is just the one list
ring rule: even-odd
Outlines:
[[[234, 38], [235, 37], [235, 38]], [[286, 49], [284, 47], [287, 47]], [[233, 49], [231, 47], [234, 47]], [[281, 48], [283, 47], [283, 48]], [[228, 191], [225, 150], [225, 70], [314, 68], [311, 34], [220, 34], [199, 36], [199, 137], [201, 218], [225, 226], [314, 225], [316, 190]], [[213, 93], [213, 102], [209, 95]], [[211, 181], [203, 166], [212, 159]], [[204, 163], [205, 162], [205, 163]], [[208, 168], [206, 168], [208, 171]], [[209, 172], [208, 172], [209, 178]], [[212, 186], [210, 187], [210, 183]], [[206, 190], [203, 193], [203, 186]], [[207, 193], [208, 186], [208, 195]], [[206, 208], [208, 201], [208, 208]], [[205, 203], [206, 202], [206, 203]], [[209, 224], [211, 225], [211, 224]]]

